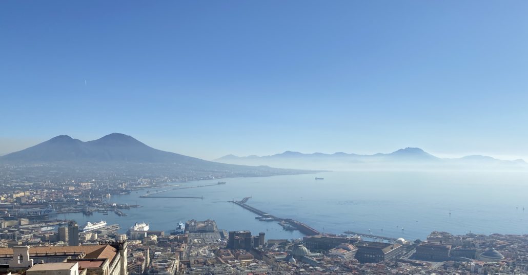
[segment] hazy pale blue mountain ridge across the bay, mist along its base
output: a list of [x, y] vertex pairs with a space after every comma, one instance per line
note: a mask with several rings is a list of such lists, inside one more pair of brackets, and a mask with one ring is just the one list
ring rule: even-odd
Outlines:
[[246, 165], [271, 165], [275, 167], [295, 167], [303, 169], [350, 169], [365, 168], [367, 166], [424, 166], [430, 167], [455, 167], [455, 166], [479, 166], [479, 165], [508, 165], [522, 166], [526, 163], [522, 159], [500, 160], [488, 156], [466, 156], [456, 159], [446, 159], [433, 156], [421, 148], [407, 147], [392, 153], [377, 153], [373, 155], [347, 154], [337, 152], [334, 154], [312, 153], [304, 154], [297, 151], [285, 151], [284, 153], [262, 156], [262, 157], [237, 157], [228, 155], [216, 159], [218, 162]]

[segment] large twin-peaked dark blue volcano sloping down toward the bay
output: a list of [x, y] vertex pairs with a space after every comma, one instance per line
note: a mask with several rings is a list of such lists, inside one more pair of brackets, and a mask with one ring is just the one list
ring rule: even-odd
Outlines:
[[[112, 175], [112, 177], [116, 175], [127, 177], [163, 175], [178, 180], [308, 172], [267, 166], [252, 167], [210, 162], [154, 149], [131, 136], [118, 133], [86, 142], [70, 136], [56, 136], [35, 146], [1, 156], [0, 164], [33, 167], [41, 174], [59, 171], [62, 174], [82, 172], [86, 175]], [[42, 167], [49, 167], [49, 169]], [[33, 175], [33, 172], [27, 174]]]

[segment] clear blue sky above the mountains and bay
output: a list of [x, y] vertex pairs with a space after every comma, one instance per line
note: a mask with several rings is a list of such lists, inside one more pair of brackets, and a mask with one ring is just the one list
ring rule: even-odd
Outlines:
[[[527, 157], [526, 1], [2, 1], [0, 153]], [[86, 84], [85, 84], [86, 80]]]

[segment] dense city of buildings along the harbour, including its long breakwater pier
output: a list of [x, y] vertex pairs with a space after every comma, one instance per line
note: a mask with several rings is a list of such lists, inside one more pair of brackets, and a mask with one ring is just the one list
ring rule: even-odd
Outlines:
[[[323, 179], [323, 178], [320, 178]], [[127, 215], [135, 204], [107, 200], [116, 194], [168, 187], [166, 181], [137, 179], [115, 184], [92, 181], [42, 182], [2, 179], [0, 272], [2, 274], [524, 274], [528, 235], [431, 232], [424, 240], [347, 232], [319, 232], [250, 206], [232, 203], [299, 230], [302, 239], [267, 239], [266, 232], [225, 231], [210, 220], [190, 220], [162, 231], [138, 221], [119, 233], [119, 224], [58, 220], [60, 213]], [[226, 184], [218, 182], [218, 185]], [[199, 186], [197, 186], [199, 187]], [[153, 189], [154, 190], [154, 189]], [[46, 273], [47, 272], [47, 273]]]

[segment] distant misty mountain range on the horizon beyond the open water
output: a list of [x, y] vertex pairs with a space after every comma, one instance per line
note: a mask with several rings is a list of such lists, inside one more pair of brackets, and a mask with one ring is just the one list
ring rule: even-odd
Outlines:
[[[269, 156], [247, 156], [238, 157], [234, 155], [227, 155], [215, 159], [215, 161], [231, 164], [266, 164], [275, 165], [276, 167], [284, 166], [289, 163], [303, 163], [307, 165], [313, 164], [526, 164], [523, 159], [516, 160], [500, 160], [489, 156], [465, 156], [461, 158], [439, 158], [433, 156], [421, 148], [407, 147], [402, 148], [392, 153], [377, 153], [373, 155], [348, 154], [337, 152], [333, 154], [325, 153], [311, 153], [305, 154], [297, 151], [285, 151], [283, 153], [269, 155]], [[321, 167], [317, 167], [319, 169]], [[327, 168], [327, 167], [326, 167]]]

